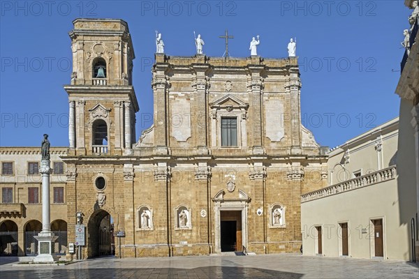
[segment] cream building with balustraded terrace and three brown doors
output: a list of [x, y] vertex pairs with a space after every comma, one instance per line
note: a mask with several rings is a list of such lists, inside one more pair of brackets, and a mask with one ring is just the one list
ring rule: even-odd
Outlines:
[[330, 186], [302, 195], [304, 255], [409, 259], [410, 227], [399, 225], [398, 123], [330, 150]]

